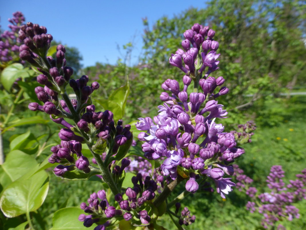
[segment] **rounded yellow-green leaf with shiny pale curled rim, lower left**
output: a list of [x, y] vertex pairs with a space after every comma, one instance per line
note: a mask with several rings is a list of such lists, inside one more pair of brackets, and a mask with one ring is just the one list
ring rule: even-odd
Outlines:
[[6, 217], [17, 217], [37, 210], [45, 200], [49, 189], [49, 177], [39, 171], [27, 179], [14, 181], [3, 191], [0, 208]]

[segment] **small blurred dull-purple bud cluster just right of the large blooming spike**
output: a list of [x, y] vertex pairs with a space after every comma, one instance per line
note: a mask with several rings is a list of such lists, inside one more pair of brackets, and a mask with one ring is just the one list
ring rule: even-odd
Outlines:
[[251, 137], [254, 135], [256, 124], [253, 121], [247, 121], [244, 125], [238, 125], [238, 130], [233, 130], [237, 144], [251, 143]]

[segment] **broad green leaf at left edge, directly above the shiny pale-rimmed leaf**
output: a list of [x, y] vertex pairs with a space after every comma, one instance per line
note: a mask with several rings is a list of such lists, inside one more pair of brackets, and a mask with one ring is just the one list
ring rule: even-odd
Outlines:
[[0, 184], [5, 188], [36, 166], [37, 162], [32, 156], [20, 150], [13, 150], [7, 154], [6, 160], [1, 166], [3, 172], [0, 173]]

